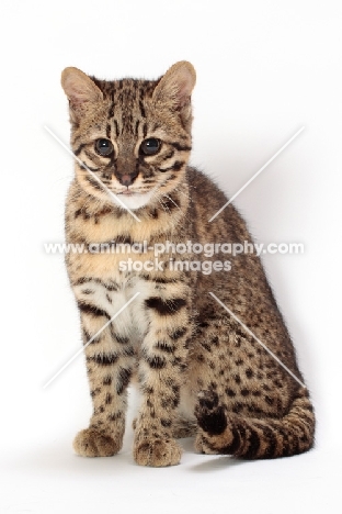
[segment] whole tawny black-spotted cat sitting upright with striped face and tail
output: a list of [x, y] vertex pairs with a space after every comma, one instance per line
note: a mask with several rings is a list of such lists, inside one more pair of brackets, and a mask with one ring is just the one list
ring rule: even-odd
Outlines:
[[231, 203], [209, 222], [227, 198], [189, 166], [195, 79], [187, 62], [158, 80], [61, 75], [76, 156], [66, 239], [89, 248], [66, 256], [93, 403], [73, 442], [81, 456], [121, 450], [134, 382], [138, 465], [178, 465], [187, 436], [198, 452], [246, 459], [314, 445], [309, 392], [261, 261], [224, 252], [253, 243], [246, 222]]

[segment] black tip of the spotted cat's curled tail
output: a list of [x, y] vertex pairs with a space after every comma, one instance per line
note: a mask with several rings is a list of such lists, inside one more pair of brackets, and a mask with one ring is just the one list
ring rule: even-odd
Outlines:
[[209, 435], [219, 435], [227, 428], [225, 409], [215, 391], [201, 391], [195, 416], [200, 427]]

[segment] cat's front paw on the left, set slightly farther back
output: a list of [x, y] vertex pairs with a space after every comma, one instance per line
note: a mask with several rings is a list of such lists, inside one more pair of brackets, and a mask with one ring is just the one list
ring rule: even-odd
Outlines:
[[94, 428], [86, 428], [73, 439], [73, 449], [81, 457], [110, 457], [119, 451], [122, 440], [115, 440]]

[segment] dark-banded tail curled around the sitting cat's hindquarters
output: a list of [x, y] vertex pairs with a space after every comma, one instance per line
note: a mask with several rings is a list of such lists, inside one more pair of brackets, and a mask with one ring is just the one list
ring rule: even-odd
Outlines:
[[300, 388], [281, 418], [241, 417], [226, 413], [214, 391], [204, 391], [195, 410], [202, 431], [196, 449], [246, 459], [289, 457], [314, 445], [315, 414], [307, 389]]

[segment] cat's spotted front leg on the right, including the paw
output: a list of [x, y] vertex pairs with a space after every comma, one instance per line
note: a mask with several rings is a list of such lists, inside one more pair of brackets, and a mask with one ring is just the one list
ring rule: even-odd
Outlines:
[[142, 402], [136, 422], [134, 458], [141, 466], [172, 466], [181, 448], [172, 436], [185, 379], [191, 334], [189, 300], [153, 297], [145, 301], [149, 316], [139, 358]]

